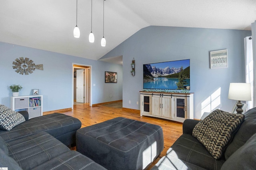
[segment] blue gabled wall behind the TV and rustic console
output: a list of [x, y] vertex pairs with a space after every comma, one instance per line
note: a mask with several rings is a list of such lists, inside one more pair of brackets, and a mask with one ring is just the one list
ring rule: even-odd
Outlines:
[[[204, 111], [232, 110], [235, 101], [228, 100], [229, 84], [245, 82], [244, 37], [250, 35], [243, 30], [149, 26], [102, 58], [123, 56], [123, 107], [131, 109], [140, 109], [143, 64], [190, 59], [194, 118], [200, 119]], [[228, 68], [210, 69], [210, 51], [222, 49], [228, 50]], [[130, 74], [133, 57], [135, 76]]]

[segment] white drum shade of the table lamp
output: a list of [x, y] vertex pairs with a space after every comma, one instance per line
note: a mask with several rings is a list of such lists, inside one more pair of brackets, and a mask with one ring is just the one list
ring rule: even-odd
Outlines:
[[230, 83], [228, 99], [251, 101], [251, 84], [250, 83]]

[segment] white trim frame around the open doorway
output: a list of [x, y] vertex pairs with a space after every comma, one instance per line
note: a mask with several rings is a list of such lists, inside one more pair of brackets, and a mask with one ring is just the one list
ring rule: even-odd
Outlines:
[[[75, 65], [75, 66], [74, 66]], [[92, 65], [72, 63], [72, 109], [74, 108], [74, 67], [79, 68], [79, 66], [90, 67], [90, 98], [89, 106], [92, 106]], [[83, 67], [81, 67], [83, 68]]]

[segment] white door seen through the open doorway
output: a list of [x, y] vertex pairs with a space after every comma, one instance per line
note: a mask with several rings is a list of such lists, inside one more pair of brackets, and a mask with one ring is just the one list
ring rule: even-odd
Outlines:
[[84, 103], [84, 69], [76, 70], [76, 102]]

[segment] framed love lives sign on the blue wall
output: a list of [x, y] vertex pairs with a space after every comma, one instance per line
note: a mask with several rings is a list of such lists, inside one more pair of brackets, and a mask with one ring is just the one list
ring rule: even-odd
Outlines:
[[227, 68], [228, 50], [219, 50], [210, 52], [210, 68]]

